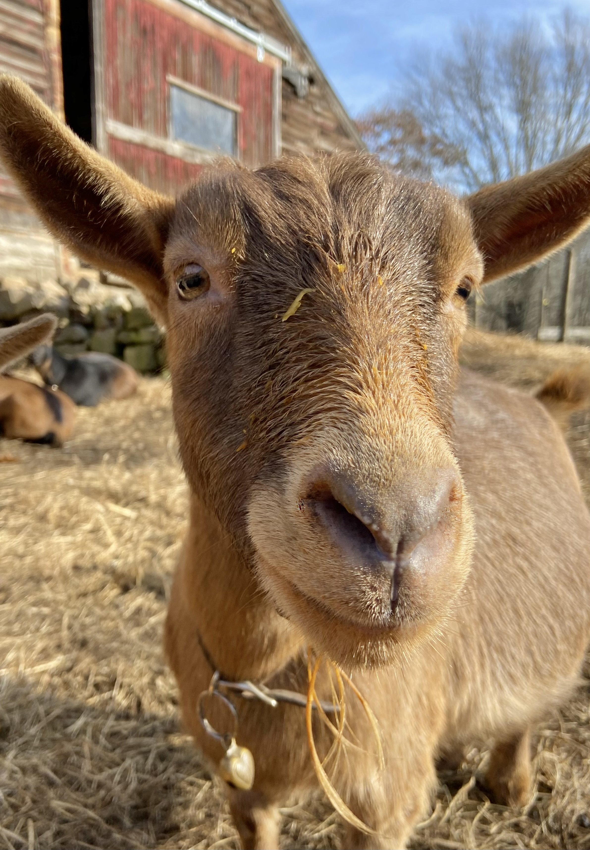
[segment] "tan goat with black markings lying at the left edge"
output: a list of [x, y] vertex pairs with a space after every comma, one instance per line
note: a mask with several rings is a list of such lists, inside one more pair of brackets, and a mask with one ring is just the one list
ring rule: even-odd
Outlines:
[[[50, 314], [0, 329], [0, 371], [53, 337]], [[74, 427], [76, 405], [59, 389], [0, 375], [0, 436], [61, 445]]]

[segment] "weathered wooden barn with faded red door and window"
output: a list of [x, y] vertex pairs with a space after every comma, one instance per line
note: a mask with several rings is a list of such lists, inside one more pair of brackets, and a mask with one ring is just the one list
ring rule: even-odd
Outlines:
[[[363, 146], [278, 0], [2, 0], [0, 71], [169, 193], [220, 153], [256, 166]], [[0, 277], [67, 264], [0, 173]]]

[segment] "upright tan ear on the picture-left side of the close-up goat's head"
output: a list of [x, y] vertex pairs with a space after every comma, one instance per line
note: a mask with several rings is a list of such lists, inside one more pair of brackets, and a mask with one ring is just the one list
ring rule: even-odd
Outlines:
[[31, 88], [5, 75], [0, 156], [51, 233], [81, 259], [131, 280], [166, 323], [162, 261], [174, 201], [99, 156]]

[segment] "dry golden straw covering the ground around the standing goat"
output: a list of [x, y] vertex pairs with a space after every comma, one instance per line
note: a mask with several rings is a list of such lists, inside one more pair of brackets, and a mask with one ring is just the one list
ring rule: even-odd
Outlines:
[[[576, 414], [587, 481], [589, 435]], [[63, 450], [0, 440], [0, 461], [0, 848], [238, 847], [161, 650], [187, 516], [166, 382], [81, 409]], [[587, 681], [537, 730], [524, 811], [488, 802], [474, 751], [411, 846], [590, 847], [589, 710]], [[321, 796], [285, 814], [283, 847], [339, 846]]]

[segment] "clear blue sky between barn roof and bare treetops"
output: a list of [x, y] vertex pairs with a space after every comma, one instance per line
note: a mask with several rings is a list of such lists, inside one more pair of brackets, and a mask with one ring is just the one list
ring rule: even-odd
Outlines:
[[356, 116], [385, 99], [418, 47], [444, 48], [468, 20], [549, 20], [565, 7], [590, 16], [588, 0], [284, 0], [340, 99]]

